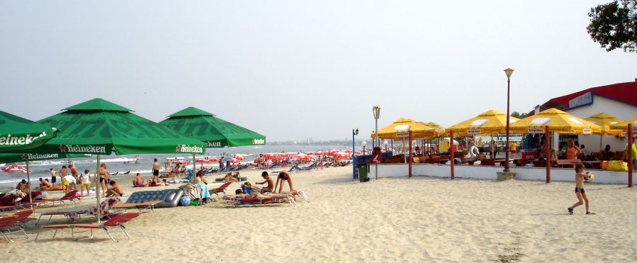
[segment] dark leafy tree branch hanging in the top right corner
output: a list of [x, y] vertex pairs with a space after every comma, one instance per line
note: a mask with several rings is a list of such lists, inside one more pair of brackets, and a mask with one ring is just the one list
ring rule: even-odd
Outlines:
[[606, 51], [622, 48], [624, 52], [637, 52], [637, 0], [600, 4], [590, 9], [588, 16], [590, 37]]

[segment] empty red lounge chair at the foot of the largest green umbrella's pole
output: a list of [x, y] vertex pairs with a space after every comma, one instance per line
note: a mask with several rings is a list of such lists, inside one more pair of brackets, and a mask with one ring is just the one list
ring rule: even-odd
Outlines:
[[[136, 218], [137, 216], [140, 216], [141, 213], [123, 213], [120, 214], [118, 216], [115, 216], [114, 218], [111, 218], [109, 220], [104, 221], [101, 224], [98, 223], [89, 223], [89, 224], [67, 224], [67, 225], [45, 225], [43, 226], [43, 229], [55, 229], [55, 233], [53, 233], [53, 237], [51, 237], [51, 239], [55, 238], [55, 235], [57, 235], [57, 230], [60, 229], [66, 229], [66, 228], [70, 228], [71, 229], [71, 238], [75, 241], [79, 240], [77, 238], [75, 238], [75, 229], [76, 228], [84, 228], [84, 229], [89, 229], [91, 230], [91, 236], [90, 237], [86, 237], [84, 239], [90, 239], [93, 238], [93, 230], [94, 229], [101, 229], [104, 230], [104, 232], [106, 232], [106, 235], [108, 235], [108, 237], [111, 237], [111, 240], [113, 240], [113, 242], [119, 242], [118, 240], [116, 240], [115, 238], [113, 238], [113, 235], [111, 235], [111, 231], [113, 229], [118, 229], [121, 232], [125, 233], [126, 236], [128, 238], [130, 238], [130, 235], [128, 234], [128, 232], [126, 231], [126, 228], [124, 227], [124, 223], [128, 222], [129, 220]], [[42, 233], [43, 231], [40, 231], [40, 233]], [[35, 240], [38, 240], [38, 237], [40, 236], [40, 233], [38, 233], [38, 235], [35, 235]]]

